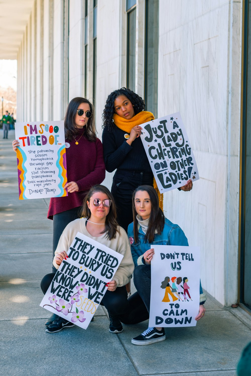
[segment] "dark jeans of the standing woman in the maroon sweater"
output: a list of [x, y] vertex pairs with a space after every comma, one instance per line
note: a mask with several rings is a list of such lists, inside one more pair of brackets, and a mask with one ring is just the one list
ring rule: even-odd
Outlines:
[[[55, 250], [57, 248], [57, 244], [62, 232], [64, 231], [68, 223], [80, 217], [81, 208], [81, 206], [78, 206], [77, 208], [66, 210], [64, 212], [53, 215], [52, 260], [55, 256]], [[52, 265], [52, 271], [53, 273], [56, 273], [57, 271], [54, 265]]]

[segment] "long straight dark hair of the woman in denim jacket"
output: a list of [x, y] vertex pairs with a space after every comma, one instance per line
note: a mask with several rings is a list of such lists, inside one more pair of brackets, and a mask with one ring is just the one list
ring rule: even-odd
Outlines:
[[163, 231], [165, 224], [165, 215], [159, 207], [159, 197], [156, 190], [151, 185], [140, 185], [133, 192], [133, 232], [134, 241], [138, 241], [138, 220], [136, 218], [137, 212], [135, 209], [135, 196], [138, 191], [147, 191], [151, 201], [151, 213], [147, 228], [147, 233], [145, 234], [145, 241], [152, 243], [154, 240], [154, 234], [157, 232], [160, 235]]

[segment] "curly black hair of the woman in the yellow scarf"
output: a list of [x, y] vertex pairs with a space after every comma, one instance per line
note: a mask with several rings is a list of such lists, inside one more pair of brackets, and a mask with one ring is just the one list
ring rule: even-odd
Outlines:
[[103, 120], [102, 128], [103, 129], [104, 127], [107, 127], [108, 130], [112, 130], [112, 128], [114, 127], [114, 123], [113, 123], [113, 114], [115, 114], [114, 101], [120, 95], [124, 95], [132, 102], [134, 106], [135, 115], [145, 110], [144, 100], [134, 91], [127, 89], [127, 88], [114, 90], [107, 97], [106, 105], [104, 106], [104, 111], [102, 115], [102, 120]]

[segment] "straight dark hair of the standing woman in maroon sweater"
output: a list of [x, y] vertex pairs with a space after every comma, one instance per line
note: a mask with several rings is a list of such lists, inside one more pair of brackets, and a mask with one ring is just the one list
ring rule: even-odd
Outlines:
[[82, 97], [76, 97], [71, 100], [68, 104], [66, 113], [65, 113], [65, 138], [72, 140], [74, 136], [78, 135], [78, 129], [75, 126], [75, 118], [77, 115], [77, 109], [81, 103], [88, 103], [90, 106], [90, 111], [92, 113], [91, 117], [88, 119], [85, 130], [85, 138], [88, 141], [96, 141], [96, 127], [94, 121], [94, 108], [91, 102], [88, 99]]

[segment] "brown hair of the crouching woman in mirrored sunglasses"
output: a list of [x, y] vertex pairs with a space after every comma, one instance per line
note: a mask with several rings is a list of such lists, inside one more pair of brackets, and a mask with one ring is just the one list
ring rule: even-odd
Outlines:
[[116, 219], [117, 215], [116, 215], [115, 201], [114, 201], [112, 194], [110, 193], [109, 189], [106, 188], [106, 186], [97, 184], [91, 187], [91, 189], [89, 190], [89, 192], [87, 193], [83, 201], [83, 211], [82, 211], [81, 217], [87, 217], [87, 218], [91, 217], [91, 211], [88, 208], [87, 201], [90, 201], [94, 193], [99, 193], [99, 192], [106, 194], [109, 200], [112, 201], [109, 213], [106, 216], [105, 229], [103, 232], [101, 232], [101, 233], [107, 233], [106, 234], [107, 239], [112, 240], [116, 238], [117, 232], [120, 235], [120, 231], [119, 231], [119, 225]]

